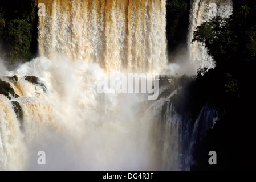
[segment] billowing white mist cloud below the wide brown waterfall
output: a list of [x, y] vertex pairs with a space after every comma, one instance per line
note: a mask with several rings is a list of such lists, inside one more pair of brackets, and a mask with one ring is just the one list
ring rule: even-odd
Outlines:
[[[27, 160], [21, 169], [170, 167], [162, 166], [164, 150], [155, 139], [170, 135], [161, 134], [157, 122], [162, 103], [169, 98], [149, 101], [138, 94], [99, 94], [97, 84], [108, 75], [98, 64], [87, 60], [38, 57], [7, 74], [18, 76], [18, 82], [11, 85], [21, 96], [17, 101], [23, 109], [19, 127]], [[40, 86], [27, 82], [26, 75], [37, 76], [46, 85], [46, 93]], [[19, 123], [17, 119], [15, 122]], [[46, 165], [38, 165], [38, 151], [46, 152]]]

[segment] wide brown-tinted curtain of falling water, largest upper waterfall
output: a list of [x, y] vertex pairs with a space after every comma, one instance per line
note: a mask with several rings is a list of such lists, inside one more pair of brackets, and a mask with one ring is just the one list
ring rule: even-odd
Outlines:
[[166, 66], [165, 1], [39, 1], [39, 54], [100, 64], [108, 72]]

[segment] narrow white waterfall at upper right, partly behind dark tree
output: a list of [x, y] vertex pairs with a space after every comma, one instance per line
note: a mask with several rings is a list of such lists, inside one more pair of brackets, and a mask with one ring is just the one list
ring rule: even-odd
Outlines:
[[192, 42], [193, 32], [197, 26], [212, 19], [214, 16], [227, 18], [233, 13], [232, 0], [192, 0], [190, 10], [190, 26], [188, 34], [188, 49], [191, 61], [197, 68], [214, 68], [215, 63], [207, 53], [202, 43]]

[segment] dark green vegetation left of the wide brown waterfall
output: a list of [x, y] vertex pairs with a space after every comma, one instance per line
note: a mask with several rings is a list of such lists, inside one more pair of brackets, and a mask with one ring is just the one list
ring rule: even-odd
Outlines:
[[37, 49], [36, 0], [0, 3], [0, 57], [7, 65], [30, 61]]

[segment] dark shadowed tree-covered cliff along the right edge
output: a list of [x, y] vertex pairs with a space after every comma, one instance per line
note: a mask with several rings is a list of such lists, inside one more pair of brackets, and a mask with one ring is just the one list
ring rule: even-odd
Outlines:
[[[198, 71], [198, 87], [190, 89], [204, 94], [192, 97], [198, 102], [211, 100], [218, 110], [216, 125], [197, 141], [194, 170], [255, 169], [251, 104], [255, 101], [256, 6], [252, 1], [239, 5], [230, 18], [217, 16], [194, 32], [193, 41], [205, 44], [216, 68]], [[208, 153], [212, 150], [217, 152], [218, 162], [210, 166]]]

